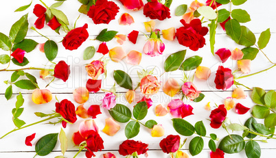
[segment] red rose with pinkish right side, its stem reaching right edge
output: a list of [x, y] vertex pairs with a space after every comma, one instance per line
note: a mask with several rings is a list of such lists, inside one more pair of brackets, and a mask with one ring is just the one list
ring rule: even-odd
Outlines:
[[215, 83], [216, 89], [218, 90], [227, 90], [228, 88], [231, 88], [234, 83], [231, 69], [218, 66]]

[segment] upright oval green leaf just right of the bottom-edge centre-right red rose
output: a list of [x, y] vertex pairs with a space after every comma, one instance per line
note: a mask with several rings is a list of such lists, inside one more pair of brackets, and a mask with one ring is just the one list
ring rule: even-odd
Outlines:
[[204, 141], [202, 137], [194, 137], [191, 142], [189, 142], [189, 153], [191, 153], [192, 156], [198, 155], [202, 150], [204, 146]]

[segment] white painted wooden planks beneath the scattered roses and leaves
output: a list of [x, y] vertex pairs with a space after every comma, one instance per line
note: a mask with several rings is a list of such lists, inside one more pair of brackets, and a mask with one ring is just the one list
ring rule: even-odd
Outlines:
[[[204, 3], [205, 1], [199, 0], [200, 2]], [[46, 1], [47, 5], [51, 5], [55, 1]], [[146, 2], [146, 1], [145, 1]], [[170, 27], [181, 27], [181, 23], [179, 22], [181, 20], [181, 16], [174, 16], [174, 11], [176, 7], [180, 4], [187, 4], [189, 5], [192, 1], [181, 1], [181, 0], [174, 0], [171, 5], [171, 15], [172, 18], [166, 19], [165, 21], [156, 21], [156, 28], [158, 29], [168, 29]], [[10, 31], [10, 27], [12, 24], [19, 20], [23, 14], [29, 13], [29, 23], [30, 27], [34, 26], [34, 22], [36, 21], [36, 16], [32, 13], [32, 10], [34, 8], [34, 5], [36, 3], [39, 3], [38, 0], [34, 0], [32, 6], [24, 11], [24, 12], [14, 12], [16, 8], [19, 8], [21, 5], [26, 5], [27, 3], [30, 3], [30, 1], [21, 1], [21, 0], [12, 0], [12, 1], [1, 1], [0, 5], [0, 21], [1, 21], [1, 27], [0, 31], [3, 34], [8, 35]], [[117, 14], [116, 19], [114, 21], [111, 21], [109, 25], [94, 25], [93, 21], [91, 21], [91, 18], [85, 15], [81, 15], [80, 19], [78, 20], [77, 27], [82, 27], [84, 23], [87, 23], [89, 25], [88, 31], [89, 31], [89, 39], [95, 38], [97, 34], [100, 33], [102, 29], [108, 28], [109, 30], [116, 30], [119, 31], [119, 34], [129, 34], [130, 31], [133, 29], [146, 32], [146, 30], [143, 27], [143, 22], [149, 21], [149, 18], [146, 18], [143, 16], [143, 11], [140, 10], [139, 12], [132, 12], [125, 10], [119, 1], [115, 0], [115, 3], [119, 5], [120, 12]], [[276, 42], [276, 12], [275, 10], [276, 1], [273, 0], [266, 0], [266, 1], [258, 1], [258, 0], [249, 0], [243, 5], [240, 5], [238, 7], [233, 6], [233, 8], [242, 8], [249, 12], [251, 15], [252, 21], [249, 23], [244, 24], [246, 27], [249, 27], [251, 31], [255, 34], [256, 38], [260, 36], [260, 33], [267, 28], [271, 28], [272, 36], [271, 41], [268, 44], [268, 47], [264, 49], [268, 57], [274, 62], [276, 62], [276, 55], [275, 55], [275, 42]], [[73, 25], [76, 18], [80, 15], [78, 12], [78, 8], [80, 7], [80, 3], [77, 0], [68, 0], [65, 1], [65, 3], [58, 9], [65, 12], [65, 14], [69, 18], [69, 23]], [[221, 8], [221, 7], [220, 7]], [[227, 8], [229, 9], [229, 8]], [[128, 12], [130, 15], [133, 16], [135, 19], [135, 23], [130, 26], [120, 26], [118, 25], [118, 19], [119, 16], [121, 16], [124, 12]], [[51, 40], [54, 40], [56, 42], [59, 42], [62, 40], [62, 37], [65, 36], [65, 33], [61, 31], [60, 35], [57, 35], [54, 31], [52, 31], [47, 25], [45, 28], [39, 30], [41, 34], [46, 35]], [[33, 40], [36, 40], [37, 42], [43, 43], [45, 42], [45, 38], [42, 38], [39, 36], [36, 32], [29, 30], [27, 34], [27, 38], [32, 38]], [[137, 70], [141, 70], [142, 68], [149, 69], [154, 68], [154, 66], [157, 66], [154, 70], [154, 75], [159, 77], [163, 73], [163, 62], [165, 61], [165, 58], [168, 57], [171, 53], [175, 53], [176, 51], [180, 51], [183, 49], [187, 49], [187, 55], [186, 57], [190, 57], [193, 55], [200, 55], [203, 57], [203, 62], [201, 66], [207, 66], [211, 68], [212, 73], [211, 77], [208, 81], [200, 81], [198, 79], [194, 80], [194, 83], [196, 87], [198, 87], [199, 90], [201, 90], [205, 94], [205, 98], [200, 103], [189, 103], [194, 107], [194, 115], [188, 116], [185, 118], [185, 120], [191, 122], [192, 124], [195, 124], [199, 120], [203, 120], [205, 123], [205, 126], [207, 127], [207, 133], [216, 133], [219, 138], [225, 137], [227, 135], [226, 131], [222, 128], [220, 129], [211, 129], [209, 127], [209, 121], [206, 120], [209, 118], [210, 111], [206, 111], [204, 109], [205, 105], [208, 102], [211, 102], [211, 105], [214, 105], [214, 103], [220, 105], [224, 102], [224, 99], [228, 96], [231, 96], [231, 88], [227, 90], [226, 92], [222, 92], [220, 90], [216, 90], [214, 86], [214, 75], [216, 73], [216, 69], [218, 68], [218, 65], [221, 65], [220, 60], [217, 56], [211, 55], [211, 52], [209, 51], [209, 34], [205, 36], [207, 44], [203, 49], [199, 49], [199, 51], [190, 51], [189, 49], [181, 46], [178, 44], [177, 40], [174, 41], [168, 41], [162, 38], [163, 42], [165, 43], [165, 51], [163, 55], [160, 55], [159, 57], [150, 57], [148, 55], [142, 55], [142, 61], [139, 66], [130, 66], [130, 64], [125, 64], [125, 62], [115, 63], [115, 62], [109, 62], [107, 66], [108, 75], [106, 79], [102, 82], [102, 88], [109, 89], [114, 84], [113, 79], [113, 70], [124, 70], [126, 73], [130, 74], [130, 77], [133, 79], [133, 83], [137, 83], [139, 81], [137, 77]], [[139, 35], [139, 38], [137, 40], [137, 44], [132, 44], [131, 42], [125, 42], [125, 44], [122, 46], [126, 53], [130, 50], [136, 50], [139, 52], [142, 52], [143, 44], [146, 42], [146, 37], [143, 36], [141, 33]], [[80, 86], [85, 86], [87, 79], [89, 79], [85, 69], [84, 64], [88, 64], [92, 60], [97, 60], [101, 57], [99, 53], [96, 53], [92, 60], [84, 61], [82, 60], [82, 53], [85, 48], [89, 46], [94, 46], [97, 50], [98, 45], [100, 42], [93, 41], [93, 40], [87, 40], [82, 44], [82, 46], [75, 51], [68, 51], [65, 50], [64, 47], [62, 47], [62, 44], [58, 44], [58, 57], [54, 62], [58, 62], [59, 60], [65, 60], [70, 66], [71, 66], [71, 75], [69, 77], [69, 80], [64, 83], [61, 80], [56, 80], [54, 83], [51, 83], [51, 85], [48, 87], [48, 89], [53, 93], [53, 95], [56, 95], [59, 100], [62, 100], [64, 98], [69, 99], [73, 103], [73, 90]], [[111, 42], [107, 43], [108, 48], [111, 49], [113, 47], [119, 46], [119, 44], [113, 39]], [[242, 47], [238, 44], [235, 44], [233, 40], [231, 40], [229, 37], [226, 36], [225, 32], [218, 28], [217, 35], [216, 35], [216, 50], [220, 48], [228, 48], [228, 49], [235, 49], [236, 47], [242, 49]], [[5, 51], [0, 50], [0, 54], [6, 53]], [[30, 64], [27, 65], [27, 67], [34, 66], [34, 67], [43, 67], [44, 65], [49, 65], [49, 62], [47, 61], [47, 58], [43, 53], [38, 51], [38, 48], [36, 48], [32, 53], [27, 53], [25, 55], [28, 60], [30, 61]], [[106, 55], [108, 57], [108, 55]], [[232, 68], [232, 70], [236, 69], [236, 62], [232, 62], [232, 60], [228, 60], [225, 64], [223, 64], [225, 67]], [[0, 68], [5, 68], [6, 65], [1, 65]], [[263, 70], [264, 68], [268, 68], [268, 66], [271, 66], [270, 63], [266, 60], [264, 55], [259, 53], [256, 57], [256, 59], [252, 62], [251, 66], [251, 72], [257, 72], [259, 70]], [[18, 66], [10, 66], [10, 68], [19, 68]], [[32, 70], [30, 71], [33, 75], [36, 77], [39, 77], [38, 70]], [[16, 101], [16, 94], [19, 92], [23, 93], [23, 97], [25, 99], [25, 103], [23, 107], [25, 107], [25, 111], [23, 112], [21, 119], [25, 120], [27, 124], [32, 123], [34, 121], [40, 120], [40, 118], [37, 118], [34, 115], [34, 112], [41, 111], [44, 113], [50, 113], [52, 110], [55, 109], [55, 99], [53, 99], [50, 103], [44, 104], [44, 105], [35, 105], [32, 102], [32, 91], [28, 90], [19, 90], [14, 87], [14, 95], [12, 96], [12, 99], [10, 101], [6, 101], [4, 97], [5, 88], [7, 88], [7, 85], [3, 83], [3, 81], [10, 79], [10, 75], [12, 73], [5, 73], [0, 72], [0, 135], [3, 135], [4, 133], [14, 129], [14, 124], [12, 122], [12, 108], [14, 108], [14, 104]], [[191, 73], [192, 75], [192, 73]], [[162, 81], [162, 83], [165, 83], [165, 81], [169, 78], [173, 77], [175, 79], [179, 80], [179, 83], [181, 83], [181, 79], [183, 78], [183, 74], [180, 70], [176, 70], [172, 73], [165, 73], [163, 76], [159, 77], [159, 79]], [[103, 78], [104, 79], [104, 78]], [[276, 84], [275, 84], [275, 68], [268, 70], [265, 73], [262, 73], [260, 75], [255, 75], [251, 78], [246, 79], [240, 79], [241, 83], [244, 83], [245, 85], [249, 87], [258, 86], [261, 88], [264, 88], [265, 90], [275, 90]], [[45, 85], [49, 83], [49, 80], [42, 80], [38, 79], [38, 85], [43, 88]], [[137, 90], [137, 97], [136, 101], [139, 101], [141, 98], [141, 93]], [[117, 92], [125, 93], [126, 90], [124, 88], [117, 87]], [[251, 92], [246, 91], [246, 94], [248, 97], [243, 100], [235, 100], [236, 103], [242, 103], [246, 107], [253, 107], [254, 103], [251, 101], [251, 98], [249, 97]], [[102, 97], [104, 96], [103, 92], [97, 92], [97, 94], [90, 94], [89, 101], [84, 104], [85, 107], [89, 107], [92, 104], [100, 104]], [[180, 96], [175, 96], [174, 98], [179, 98]], [[158, 93], [152, 96], [152, 100], [154, 101], [154, 106], [149, 109], [148, 116], [144, 120], [150, 120], [154, 119], [157, 120], [157, 122], [163, 124], [163, 127], [165, 127], [165, 136], [170, 134], [177, 134], [176, 131], [172, 128], [172, 121], [171, 116], [168, 114], [164, 117], [157, 117], [154, 115], [154, 107], [155, 105], [162, 104], [166, 106], [170, 100], [169, 96], [165, 95], [162, 90]], [[121, 98], [117, 98], [117, 103], [122, 103], [124, 105], [127, 105], [130, 107], [130, 109], [133, 109], [133, 105], [135, 103], [129, 105], [124, 96]], [[75, 103], [76, 107], [78, 106], [78, 103]], [[121, 144], [124, 140], [126, 140], [126, 137], [124, 135], [124, 127], [126, 124], [120, 124], [121, 129], [119, 132], [113, 136], [110, 137], [103, 133], [101, 130], [104, 128], [104, 120], [109, 116], [108, 111], [106, 109], [102, 109], [102, 113], [95, 119], [97, 126], [100, 129], [100, 135], [102, 136], [104, 140], [104, 150], [102, 152], [95, 153], [97, 157], [101, 157], [103, 153], [107, 153], [108, 151], [111, 151], [116, 154], [117, 157], [122, 157], [117, 153], [117, 150], [119, 148], [119, 144]], [[251, 117], [250, 113], [244, 114], [244, 115], [238, 115], [235, 114], [234, 110], [230, 110], [228, 114], [229, 118], [231, 118], [232, 122], [242, 122], [244, 123], [245, 120], [247, 120], [249, 117]], [[65, 132], [67, 133], [67, 137], [69, 138], [69, 148], [67, 153], [65, 154], [66, 157], [73, 157], [73, 155], [76, 154], [78, 148], [75, 148], [73, 145], [73, 142], [71, 140], [71, 135], [78, 131], [78, 125], [82, 121], [81, 118], [78, 119], [76, 124], [69, 125]], [[262, 122], [262, 120], [258, 120]], [[36, 133], [36, 138], [34, 139], [34, 144], [40, 137], [43, 135], [46, 135], [47, 133], [58, 133], [60, 131], [61, 125], [58, 124], [56, 126], [52, 126], [49, 124], [38, 124], [34, 127], [30, 127], [27, 129], [23, 129], [21, 131], [17, 131], [15, 133], [12, 133], [5, 137], [4, 139], [0, 140], [0, 157], [1, 158], [10, 158], [10, 157], [34, 157], [34, 146], [25, 146], [25, 137], [27, 135], [30, 135], [32, 133]], [[239, 133], [241, 134], [241, 133]], [[165, 155], [159, 147], [159, 142], [163, 139], [163, 137], [151, 137], [150, 130], [146, 129], [145, 127], [141, 127], [140, 133], [137, 137], [134, 137], [134, 140], [141, 140], [144, 143], [149, 144], [149, 152], [148, 155], [150, 158], [152, 157], [169, 157], [168, 155]], [[185, 137], [181, 136], [181, 140], [184, 140]], [[191, 140], [192, 137], [188, 138]], [[260, 138], [261, 139], [261, 138]], [[205, 158], [209, 157], [209, 148], [207, 142], [209, 139], [205, 139], [205, 146], [202, 153], [199, 155], [196, 155], [195, 157]], [[268, 144], [266, 143], [260, 143], [260, 146], [262, 148], [262, 157], [273, 157], [273, 155], [276, 154], [276, 142], [275, 140], [268, 140]], [[58, 155], [61, 155], [60, 153], [60, 144], [58, 143], [56, 145], [56, 148], [54, 149], [54, 152], [50, 155], [47, 155], [46, 157], [56, 157]], [[186, 153], [189, 154], [188, 149], [188, 143], [183, 146], [183, 149], [186, 151]], [[37, 156], [39, 157], [39, 156]], [[84, 152], [80, 153], [78, 157], [85, 157]], [[141, 156], [143, 157], [143, 156]], [[192, 156], [190, 156], [192, 157]], [[246, 157], [244, 150], [241, 153], [233, 154], [233, 155], [225, 155], [225, 157]]]

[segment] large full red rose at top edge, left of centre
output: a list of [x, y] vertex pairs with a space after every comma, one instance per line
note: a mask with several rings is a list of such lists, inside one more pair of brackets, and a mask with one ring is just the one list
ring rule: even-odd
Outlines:
[[115, 19], [119, 12], [119, 7], [113, 1], [97, 0], [95, 5], [92, 5], [87, 15], [92, 18], [95, 24], [106, 23]]

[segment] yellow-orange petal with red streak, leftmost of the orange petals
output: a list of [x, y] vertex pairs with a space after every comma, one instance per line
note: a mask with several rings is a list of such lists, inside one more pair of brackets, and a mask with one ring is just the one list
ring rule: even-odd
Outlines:
[[36, 89], [32, 92], [32, 101], [36, 104], [49, 103], [51, 101], [51, 92], [49, 90]]

